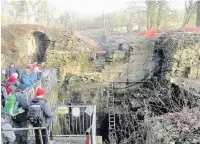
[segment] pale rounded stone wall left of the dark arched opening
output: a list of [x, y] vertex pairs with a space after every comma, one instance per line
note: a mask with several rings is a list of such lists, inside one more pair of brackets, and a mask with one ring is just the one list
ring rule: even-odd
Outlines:
[[16, 64], [27, 64], [34, 57], [36, 52], [36, 43], [34, 32], [45, 33], [46, 29], [38, 25], [6, 25], [1, 29], [4, 46], [1, 54], [4, 56], [1, 66], [7, 67], [11, 61]]

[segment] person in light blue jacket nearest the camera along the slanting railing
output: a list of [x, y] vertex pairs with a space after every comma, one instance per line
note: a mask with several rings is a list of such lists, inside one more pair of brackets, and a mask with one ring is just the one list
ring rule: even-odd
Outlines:
[[26, 69], [21, 76], [21, 83], [26, 86], [26, 88], [31, 88], [33, 83], [31, 81], [30, 70]]

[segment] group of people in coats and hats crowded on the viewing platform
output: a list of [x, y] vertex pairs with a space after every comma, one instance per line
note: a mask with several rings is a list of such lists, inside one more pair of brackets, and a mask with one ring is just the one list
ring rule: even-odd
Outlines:
[[[27, 128], [30, 123], [33, 127], [49, 128], [53, 113], [45, 100], [45, 91], [37, 88], [35, 98], [28, 101], [23, 91], [34, 86], [37, 80], [43, 77], [44, 65], [38, 67], [37, 63], [29, 64], [20, 76], [18, 67], [12, 63], [7, 69], [8, 80], [1, 84], [1, 128], [4, 143], [26, 144], [28, 131], [4, 131], [11, 128]], [[11, 118], [12, 124], [6, 120]], [[43, 143], [48, 143], [48, 132], [42, 131]], [[40, 144], [39, 130], [35, 130], [36, 144]]]

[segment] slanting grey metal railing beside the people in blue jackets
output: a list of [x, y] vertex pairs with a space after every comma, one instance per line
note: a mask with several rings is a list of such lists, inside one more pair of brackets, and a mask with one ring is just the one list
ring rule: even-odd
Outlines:
[[27, 100], [30, 101], [34, 96], [38, 87], [45, 90], [46, 94], [50, 93], [53, 87], [57, 84], [57, 74], [56, 69], [45, 70], [45, 76], [38, 80], [31, 88], [25, 89], [22, 93], [27, 97]]

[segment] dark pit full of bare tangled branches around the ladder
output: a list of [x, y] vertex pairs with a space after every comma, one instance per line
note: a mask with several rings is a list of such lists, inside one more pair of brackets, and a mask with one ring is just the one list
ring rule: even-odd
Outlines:
[[[167, 88], [169, 87], [171, 90], [170, 94], [167, 93]], [[154, 88], [156, 88], [157, 92], [160, 94], [159, 97], [156, 96]], [[130, 100], [126, 102], [123, 102], [123, 100], [115, 102], [115, 108], [117, 109], [117, 107], [121, 106], [121, 111], [123, 112], [115, 115], [116, 139], [118, 144], [124, 143], [127, 139], [130, 139], [128, 143], [148, 143], [146, 139], [148, 125], [145, 123], [147, 120], [145, 118], [148, 117], [145, 114], [147, 110], [151, 112], [151, 116], [148, 117], [150, 118], [152, 116], [162, 116], [167, 113], [180, 112], [184, 107], [195, 108], [197, 106], [196, 100], [198, 97], [195, 97], [179, 86], [169, 82], [159, 83], [155, 80], [150, 80], [148, 83], [141, 86], [141, 89], [142, 91], [136, 89], [131, 95], [127, 94], [130, 100], [141, 101], [142, 105], [140, 107], [132, 105]], [[144, 93], [146, 95], [144, 95]], [[128, 107], [128, 110], [125, 107]], [[104, 114], [104, 117], [101, 117], [101, 119], [103, 120], [101, 121], [101, 128], [98, 134], [102, 136], [105, 143], [109, 143], [108, 114]]]

